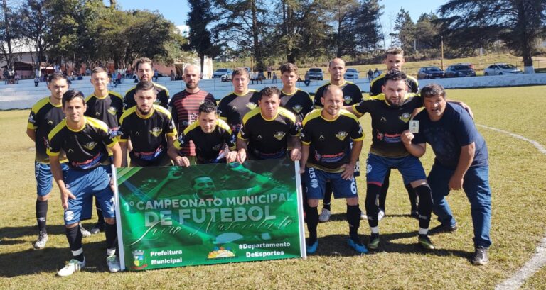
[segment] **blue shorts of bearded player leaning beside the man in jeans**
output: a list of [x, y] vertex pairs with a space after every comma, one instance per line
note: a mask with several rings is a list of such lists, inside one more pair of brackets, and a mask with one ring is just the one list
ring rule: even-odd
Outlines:
[[409, 184], [420, 179], [427, 179], [424, 174], [423, 165], [419, 158], [413, 155], [406, 157], [381, 157], [375, 154], [368, 154], [366, 160], [366, 182], [382, 186], [385, 181], [385, 174], [388, 169], [398, 169], [404, 179], [404, 184]]

